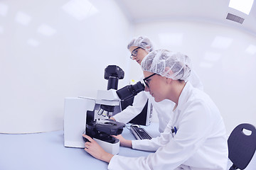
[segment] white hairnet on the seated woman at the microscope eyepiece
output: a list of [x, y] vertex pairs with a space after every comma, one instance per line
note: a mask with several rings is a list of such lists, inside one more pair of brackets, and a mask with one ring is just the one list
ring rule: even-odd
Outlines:
[[187, 81], [191, 74], [191, 60], [180, 52], [154, 50], [142, 60], [142, 70], [174, 80]]

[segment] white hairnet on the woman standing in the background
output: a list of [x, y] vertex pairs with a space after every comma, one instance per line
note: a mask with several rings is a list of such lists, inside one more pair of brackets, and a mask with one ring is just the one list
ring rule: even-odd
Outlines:
[[142, 47], [144, 50], [146, 50], [146, 52], [151, 52], [153, 50], [152, 42], [149, 40], [149, 38], [144, 36], [132, 38], [131, 42], [129, 42], [127, 45], [127, 49], [129, 50], [129, 48], [132, 46]]

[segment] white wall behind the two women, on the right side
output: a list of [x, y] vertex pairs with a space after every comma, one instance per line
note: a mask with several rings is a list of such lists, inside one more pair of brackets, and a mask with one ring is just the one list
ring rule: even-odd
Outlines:
[[[214, 23], [162, 21], [138, 23], [157, 48], [191, 57], [204, 89], [223, 115], [227, 133], [239, 123], [256, 125], [256, 37]], [[133, 69], [132, 77], [139, 68]]]

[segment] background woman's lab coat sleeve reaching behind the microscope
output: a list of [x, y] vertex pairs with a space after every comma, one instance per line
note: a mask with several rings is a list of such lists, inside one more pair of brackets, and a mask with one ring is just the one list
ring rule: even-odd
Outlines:
[[146, 91], [142, 91], [139, 94], [137, 94], [137, 96], [134, 96], [134, 102], [132, 106], [128, 106], [124, 109], [124, 111], [114, 115], [114, 120], [117, 120], [118, 122], [122, 123], [129, 123], [130, 120], [139, 115], [139, 113], [142, 112], [148, 99], [145, 93]]

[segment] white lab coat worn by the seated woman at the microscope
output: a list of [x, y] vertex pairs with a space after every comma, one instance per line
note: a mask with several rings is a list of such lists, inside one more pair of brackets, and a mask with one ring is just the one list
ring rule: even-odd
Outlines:
[[[176, 127], [177, 132], [171, 132]], [[174, 136], [174, 137], [173, 137]], [[223, 118], [210, 97], [187, 82], [164, 133], [134, 149], [156, 150], [148, 157], [114, 155], [108, 169], [226, 169], [228, 143]], [[142, 141], [142, 140], [141, 140]], [[149, 140], [144, 140], [149, 141]]]

